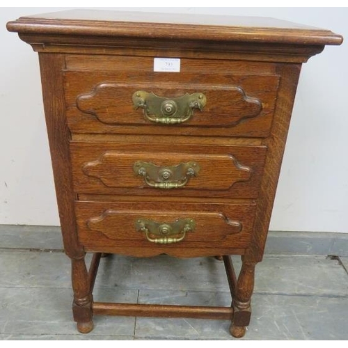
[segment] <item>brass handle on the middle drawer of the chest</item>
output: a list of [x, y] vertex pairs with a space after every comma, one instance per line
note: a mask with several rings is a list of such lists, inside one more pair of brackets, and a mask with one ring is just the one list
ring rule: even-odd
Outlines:
[[168, 167], [136, 161], [133, 171], [136, 175], [143, 176], [145, 183], [155, 189], [180, 189], [189, 182], [190, 177], [197, 176], [200, 166], [193, 161]]

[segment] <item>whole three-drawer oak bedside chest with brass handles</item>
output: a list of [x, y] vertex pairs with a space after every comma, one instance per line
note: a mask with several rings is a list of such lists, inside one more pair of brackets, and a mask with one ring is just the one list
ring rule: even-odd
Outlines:
[[[201, 317], [230, 319], [242, 337], [301, 64], [342, 37], [277, 19], [93, 10], [7, 27], [40, 58], [77, 329], [93, 315]], [[232, 305], [95, 302], [102, 253], [220, 255]], [[230, 255], [242, 256], [238, 277]]]

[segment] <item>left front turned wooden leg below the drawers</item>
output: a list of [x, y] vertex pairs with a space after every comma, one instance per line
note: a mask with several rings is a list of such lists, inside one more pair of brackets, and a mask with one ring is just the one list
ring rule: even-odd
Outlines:
[[77, 330], [88, 333], [93, 329], [92, 294], [85, 258], [72, 259], [72, 289], [74, 301], [72, 313], [77, 322]]

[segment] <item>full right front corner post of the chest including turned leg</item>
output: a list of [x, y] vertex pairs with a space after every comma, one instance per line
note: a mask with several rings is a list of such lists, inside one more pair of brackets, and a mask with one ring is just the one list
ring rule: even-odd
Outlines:
[[255, 213], [253, 235], [250, 247], [246, 249], [245, 255], [242, 256], [242, 269], [237, 281], [235, 298], [232, 301], [234, 317], [230, 331], [235, 337], [242, 337], [246, 326], [250, 323], [255, 265], [262, 261], [264, 254], [301, 64], [278, 63], [276, 71], [280, 76], [280, 85], [271, 134], [262, 141], [267, 146], [268, 152], [264, 163], [264, 174]]

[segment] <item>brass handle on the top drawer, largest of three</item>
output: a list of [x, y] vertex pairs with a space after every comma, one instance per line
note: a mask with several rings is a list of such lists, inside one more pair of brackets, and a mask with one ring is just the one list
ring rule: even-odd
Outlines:
[[194, 109], [203, 111], [207, 98], [203, 93], [186, 93], [181, 97], [165, 98], [138, 90], [133, 94], [134, 109], [144, 109], [145, 118], [164, 125], [176, 125], [191, 118]]

